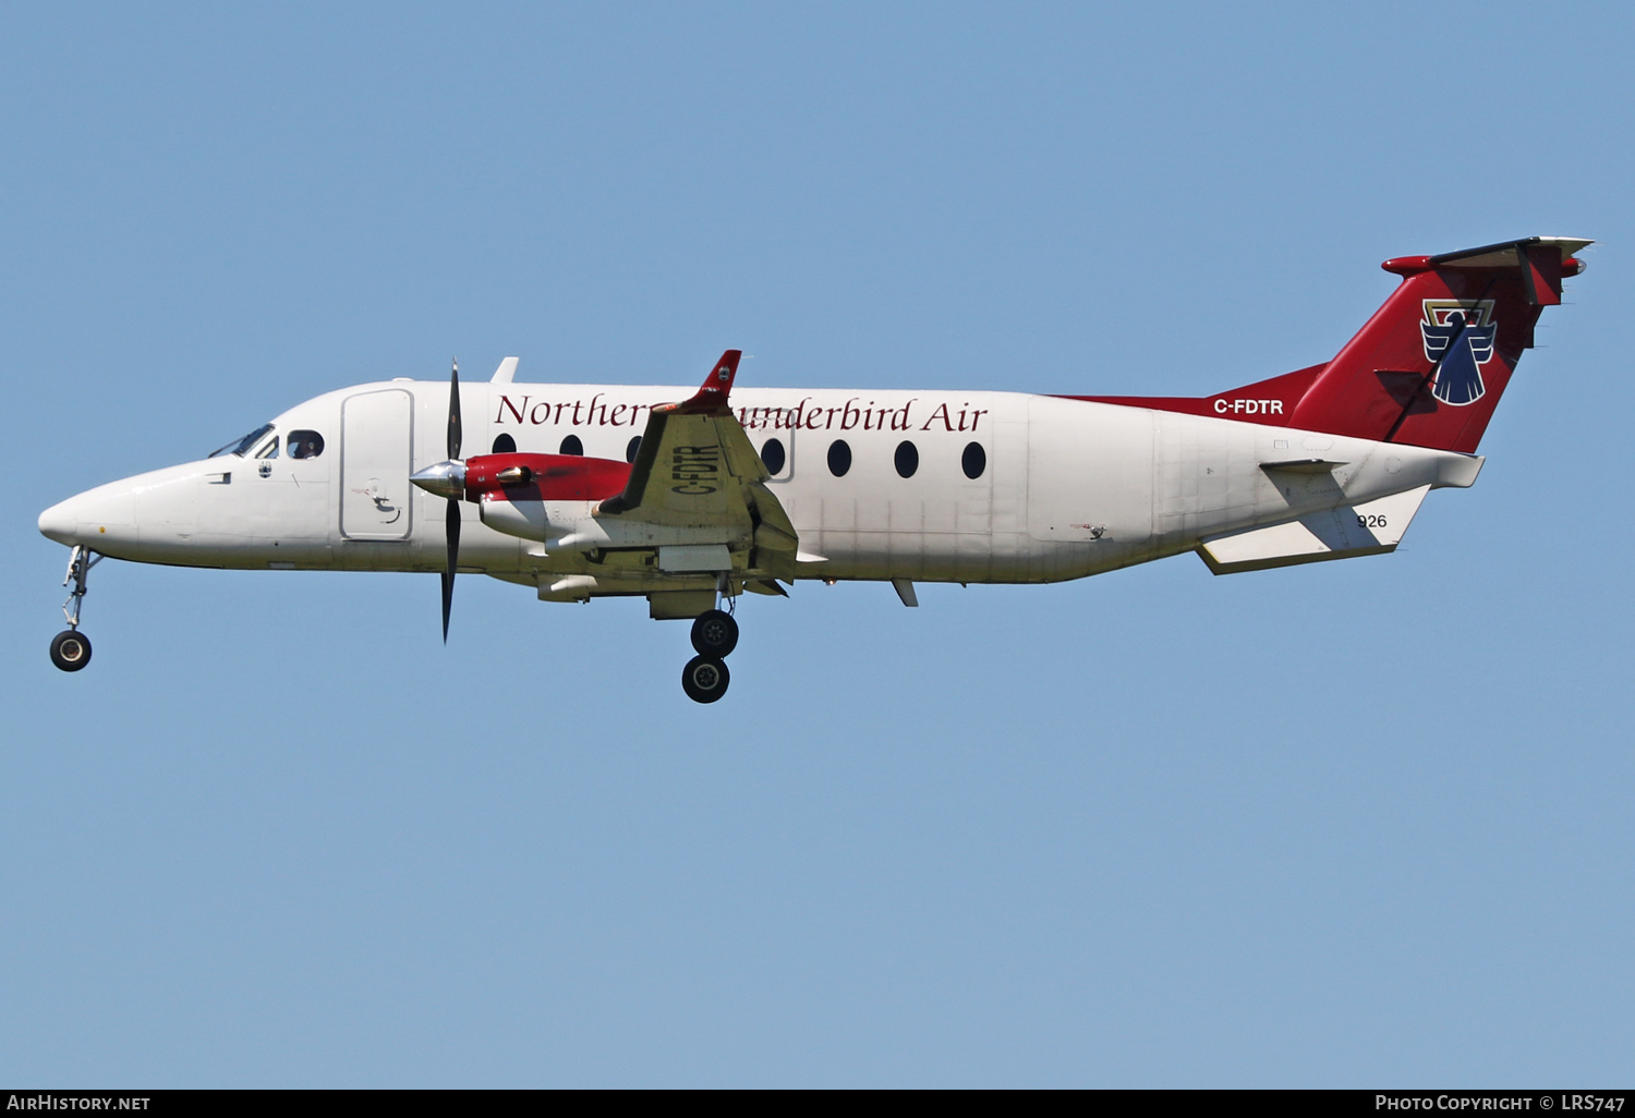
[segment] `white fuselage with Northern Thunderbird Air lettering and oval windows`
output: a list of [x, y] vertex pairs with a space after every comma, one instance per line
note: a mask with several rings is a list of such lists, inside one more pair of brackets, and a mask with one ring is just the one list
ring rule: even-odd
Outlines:
[[[508, 435], [518, 451], [554, 454], [572, 436], [584, 454], [625, 461], [647, 409], [692, 391], [468, 384], [464, 453], [489, 453]], [[822, 557], [800, 566], [813, 579], [1079, 579], [1323, 510], [1468, 485], [1480, 466], [1468, 454], [1017, 392], [741, 387], [732, 407], [768, 464], [767, 441], [782, 445], [768, 487], [803, 559]], [[441, 570], [443, 500], [409, 474], [445, 458], [446, 412], [440, 381], [330, 392], [273, 422], [283, 438], [320, 433], [317, 456], [255, 458], [252, 446], [128, 477], [52, 507], [41, 531], [141, 562]], [[907, 477], [903, 443], [912, 446], [904, 466], [916, 459]], [[831, 461], [842, 458], [850, 464], [837, 474]], [[1265, 469], [1310, 459], [1323, 466]], [[463, 570], [543, 585], [585, 569], [576, 551], [494, 531], [474, 503], [461, 510]]]

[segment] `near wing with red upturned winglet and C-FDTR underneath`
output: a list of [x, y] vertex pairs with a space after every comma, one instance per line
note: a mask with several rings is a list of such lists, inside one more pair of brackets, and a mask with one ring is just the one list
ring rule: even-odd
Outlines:
[[728, 350], [690, 400], [652, 409], [629, 484], [597, 517], [719, 531], [728, 546], [747, 541], [750, 572], [793, 582], [800, 539], [728, 404], [741, 356]]

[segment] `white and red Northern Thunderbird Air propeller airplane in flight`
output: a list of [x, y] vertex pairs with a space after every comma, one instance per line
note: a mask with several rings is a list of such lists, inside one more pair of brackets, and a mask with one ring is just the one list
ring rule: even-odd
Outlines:
[[[692, 621], [682, 688], [731, 682], [744, 592], [801, 580], [1046, 584], [1197, 552], [1215, 574], [1395, 551], [1465, 489], [1543, 307], [1589, 240], [1525, 237], [1382, 266], [1396, 289], [1319, 364], [1203, 397], [397, 378], [298, 404], [199, 461], [52, 505], [78, 672], [103, 557], [245, 570], [458, 572], [541, 601], [646, 598]], [[466, 417], [476, 422], [469, 423]], [[476, 436], [476, 438], [468, 438]], [[461, 458], [468, 441], [481, 453]]]

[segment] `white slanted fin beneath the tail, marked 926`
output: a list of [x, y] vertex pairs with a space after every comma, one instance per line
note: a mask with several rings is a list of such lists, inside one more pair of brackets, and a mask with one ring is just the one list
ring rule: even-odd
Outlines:
[[1421, 485], [1362, 505], [1344, 505], [1282, 525], [1216, 536], [1203, 541], [1198, 556], [1215, 574], [1383, 556], [1396, 551], [1427, 492], [1431, 487]]

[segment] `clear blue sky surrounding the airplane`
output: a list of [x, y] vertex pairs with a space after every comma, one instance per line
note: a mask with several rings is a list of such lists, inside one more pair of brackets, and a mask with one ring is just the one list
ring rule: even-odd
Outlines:
[[[473, 10], [474, 8], [474, 10]], [[1627, 1082], [1624, 5], [13, 5], [0, 1080]], [[379, 376], [1205, 394], [1596, 237], [1378, 559], [752, 600], [96, 569]]]

